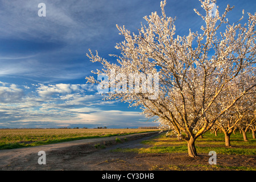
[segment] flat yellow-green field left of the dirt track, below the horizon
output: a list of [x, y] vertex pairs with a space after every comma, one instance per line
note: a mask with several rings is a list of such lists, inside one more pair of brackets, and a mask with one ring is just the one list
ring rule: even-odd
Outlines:
[[80, 139], [112, 137], [156, 131], [154, 129], [3, 129], [0, 150], [40, 146]]

